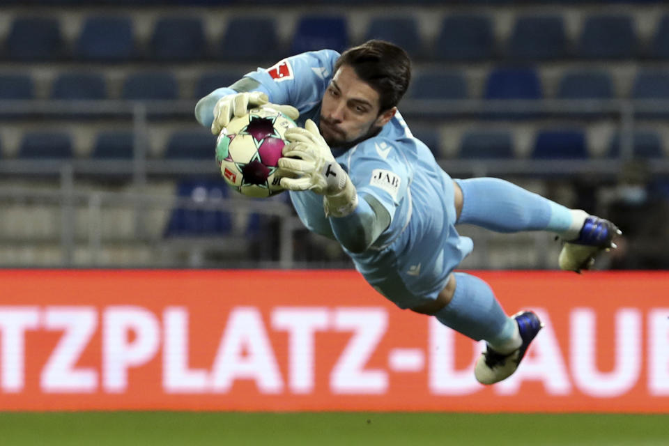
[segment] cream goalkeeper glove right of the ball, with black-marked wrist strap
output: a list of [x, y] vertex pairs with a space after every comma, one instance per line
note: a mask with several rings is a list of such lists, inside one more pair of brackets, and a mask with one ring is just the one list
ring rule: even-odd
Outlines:
[[307, 119], [305, 128], [290, 128], [284, 138], [291, 141], [284, 146], [279, 168], [284, 175], [281, 186], [288, 190], [313, 190], [323, 195], [325, 216], [345, 217], [357, 207], [357, 192], [351, 178], [334, 160], [330, 146], [318, 132], [318, 126]]

